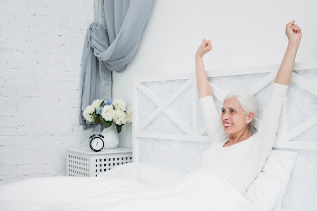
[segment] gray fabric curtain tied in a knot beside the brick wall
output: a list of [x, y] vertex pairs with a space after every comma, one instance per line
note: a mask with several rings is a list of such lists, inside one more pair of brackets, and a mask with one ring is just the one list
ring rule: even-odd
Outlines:
[[[84, 129], [89, 127], [82, 116], [87, 105], [103, 98], [102, 92], [111, 93], [111, 83], [101, 87], [100, 74], [111, 77], [104, 71], [125, 71], [139, 46], [152, 3], [153, 0], [104, 0], [105, 23], [89, 26], [82, 57], [80, 124]], [[105, 88], [108, 91], [103, 91]]]

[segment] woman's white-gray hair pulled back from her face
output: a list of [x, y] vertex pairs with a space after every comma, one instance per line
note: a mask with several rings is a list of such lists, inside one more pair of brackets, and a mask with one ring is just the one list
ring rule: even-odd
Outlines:
[[229, 98], [235, 98], [241, 105], [241, 108], [243, 109], [244, 113], [247, 115], [250, 112], [254, 113], [254, 118], [252, 122], [250, 122], [250, 126], [253, 126], [254, 119], [256, 115], [258, 114], [258, 103], [255, 99], [255, 97], [246, 92], [246, 91], [235, 91], [231, 94], [227, 94], [224, 97], [224, 100], [229, 99]]

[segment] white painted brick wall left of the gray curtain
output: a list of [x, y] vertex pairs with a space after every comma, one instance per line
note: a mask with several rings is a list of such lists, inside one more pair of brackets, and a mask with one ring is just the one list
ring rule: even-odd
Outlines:
[[79, 125], [81, 56], [92, 0], [0, 0], [0, 179], [66, 175]]

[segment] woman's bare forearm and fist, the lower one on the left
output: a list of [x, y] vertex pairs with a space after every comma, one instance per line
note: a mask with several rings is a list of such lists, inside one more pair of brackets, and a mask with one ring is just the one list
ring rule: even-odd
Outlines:
[[212, 95], [212, 89], [209, 84], [203, 62], [203, 56], [211, 49], [211, 41], [204, 38], [195, 55], [196, 80], [199, 98]]

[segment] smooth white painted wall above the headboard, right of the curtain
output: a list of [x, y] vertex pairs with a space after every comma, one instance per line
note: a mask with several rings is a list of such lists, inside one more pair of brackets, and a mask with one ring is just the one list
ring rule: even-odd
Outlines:
[[[204, 37], [213, 50], [207, 70], [280, 64], [286, 49], [285, 25], [292, 19], [303, 37], [296, 62], [317, 60], [317, 2], [157, 0], [143, 39], [124, 73], [113, 73], [113, 97], [132, 104], [134, 77], [194, 72], [194, 55]], [[120, 134], [132, 146], [132, 125]]]

